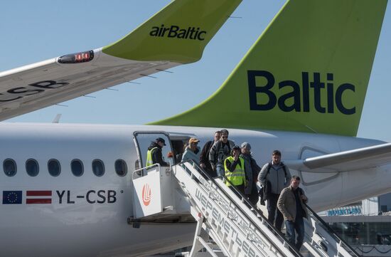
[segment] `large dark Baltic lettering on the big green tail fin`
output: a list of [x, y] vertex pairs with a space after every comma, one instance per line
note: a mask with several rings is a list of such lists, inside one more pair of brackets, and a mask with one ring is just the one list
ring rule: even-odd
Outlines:
[[[327, 73], [326, 83], [321, 81], [321, 73], [314, 73], [314, 78], [310, 81], [308, 72], [301, 73], [301, 85], [294, 80], [283, 80], [278, 83], [279, 89], [289, 87], [291, 91], [284, 95], [277, 96], [272, 92], [272, 88], [276, 84], [276, 78], [267, 70], [247, 70], [248, 88], [250, 97], [250, 110], [272, 110], [278, 103], [278, 107], [283, 112], [310, 112], [310, 93], [313, 94], [314, 108], [320, 113], [334, 113], [334, 103], [337, 109], [345, 114], [352, 115], [355, 113], [355, 106], [348, 106], [343, 103], [343, 95], [346, 98], [354, 97], [355, 85], [350, 83], [342, 83], [341, 85], [334, 85], [333, 73]], [[266, 81], [264, 85], [258, 85], [257, 80]], [[311, 92], [312, 91], [312, 92]], [[324, 93], [323, 93], [324, 92]], [[326, 95], [325, 95], [326, 93]], [[326, 105], [322, 106], [322, 96], [326, 97]], [[267, 99], [258, 103], [258, 99]], [[286, 102], [291, 100], [291, 104]], [[323, 100], [324, 103], [324, 100]]]

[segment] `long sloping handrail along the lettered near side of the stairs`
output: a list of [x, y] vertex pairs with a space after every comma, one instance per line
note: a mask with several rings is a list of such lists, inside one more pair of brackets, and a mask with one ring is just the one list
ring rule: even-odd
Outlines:
[[[207, 177], [208, 179], [210, 179], [210, 181], [211, 181], [213, 184], [215, 184], [215, 186], [218, 187], [218, 189], [220, 189], [220, 191], [223, 192], [223, 194], [224, 194], [228, 199], [232, 200], [232, 199], [231, 199], [231, 196], [229, 196], [229, 195], [224, 191], [224, 189], [222, 189], [222, 188], [220, 187], [220, 185], [219, 185], [217, 182], [215, 182], [215, 178], [211, 177], [210, 174], [208, 174], [208, 172], [205, 172], [205, 170], [204, 170], [202, 167], [200, 167], [200, 165], [199, 165], [197, 162], [193, 161], [193, 159], [189, 159], [189, 160], [186, 160], [186, 161], [184, 161], [184, 162], [180, 162], [179, 165], [181, 165], [181, 167], [185, 168], [186, 171], [188, 171], [188, 168], [186, 167], [186, 165], [184, 165], [184, 163], [186, 163], [186, 162], [193, 164], [193, 167], [197, 167], [197, 171], [200, 172], [201, 175], [203, 175], [204, 177]], [[188, 171], [188, 172], [189, 172], [189, 171]], [[227, 178], [226, 178], [225, 176], [218, 176], [218, 177], [216, 177], [216, 178], [222, 178], [223, 181], [225, 180], [225, 181], [229, 182], [229, 183], [232, 185], [232, 183], [231, 183], [229, 180], [227, 180]], [[289, 251], [291, 251], [291, 253], [292, 253], [294, 256], [296, 256], [296, 257], [303, 257], [303, 256], [301, 255], [301, 253], [300, 253], [299, 251], [297, 251], [296, 248], [294, 248], [294, 246], [291, 246], [291, 244], [286, 240], [285, 236], [284, 236], [278, 229], [276, 229], [276, 228], [274, 227], [273, 224], [271, 224], [271, 223], [266, 219], [266, 217], [262, 214], [262, 211], [259, 211], [259, 210], [258, 210], [257, 206], [254, 206], [249, 200], [247, 200], [246, 196], [244, 196], [244, 195], [242, 194], [242, 192], [237, 191], [237, 189], [236, 189], [235, 187], [233, 187], [233, 189], [234, 189], [238, 194], [240, 194], [240, 196], [242, 197], [242, 199], [240, 199], [240, 200], [241, 200], [242, 202], [244, 202], [245, 204], [247, 204], [248, 206], [250, 206], [250, 209], [252, 208], [252, 211], [255, 211], [256, 214], [258, 214], [258, 215], [264, 220], [264, 222], [268, 225], [269, 229], [272, 230], [272, 232], [274, 232], [274, 234], [275, 234], [276, 236], [278, 235], [279, 238], [282, 238], [282, 241], [285, 241], [285, 242], [286, 242], [286, 245], [289, 247]], [[250, 221], [250, 222], [252, 223], [253, 226], [255, 226], [257, 229], [259, 229], [259, 232], [260, 232], [260, 233], [262, 233], [265, 237], [267, 237], [267, 236], [263, 233], [262, 229], [261, 229], [255, 222], [252, 221], [252, 219], [250, 218], [250, 216], [248, 216], [244, 211], [242, 211], [242, 210], [240, 209], [240, 206], [239, 206], [238, 204], [236, 204], [235, 201], [231, 201], [231, 202], [232, 202], [232, 204], [234, 204], [234, 205], [237, 207], [237, 209], [239, 209], [239, 210], [242, 212], [243, 215], [245, 215], [245, 216], [247, 217], [248, 221]], [[279, 248], [274, 244], [273, 241], [269, 241], [269, 242], [274, 246], [274, 248], [276, 248], [276, 249], [279, 251]]]

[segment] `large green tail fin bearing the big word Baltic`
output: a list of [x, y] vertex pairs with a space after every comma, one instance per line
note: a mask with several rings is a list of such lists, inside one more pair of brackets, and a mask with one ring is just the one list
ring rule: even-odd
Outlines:
[[386, 6], [286, 2], [218, 91], [151, 124], [355, 136]]

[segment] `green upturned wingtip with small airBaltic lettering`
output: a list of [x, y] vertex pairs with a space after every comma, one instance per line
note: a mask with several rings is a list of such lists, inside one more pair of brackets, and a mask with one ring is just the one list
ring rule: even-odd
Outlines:
[[242, 0], [176, 0], [104, 53], [136, 61], [193, 63]]

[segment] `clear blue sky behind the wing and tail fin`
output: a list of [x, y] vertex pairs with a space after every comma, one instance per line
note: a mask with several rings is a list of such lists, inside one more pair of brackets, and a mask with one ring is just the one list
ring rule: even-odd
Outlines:
[[[375, 1], [375, 0], [374, 0]], [[109, 43], [149, 19], [169, 0], [129, 1], [3, 1], [0, 8], [0, 70], [36, 63], [66, 53], [86, 51]], [[208, 98], [258, 38], [285, 1], [243, 0], [205, 48], [198, 63], [141, 78], [141, 85], [117, 85], [15, 117], [9, 122], [144, 124], [178, 114]], [[391, 142], [391, 6], [385, 14], [370, 78], [359, 137]], [[152, 103], [147, 104], [146, 102]], [[163, 107], [156, 109], [157, 103]]]

